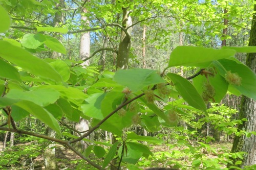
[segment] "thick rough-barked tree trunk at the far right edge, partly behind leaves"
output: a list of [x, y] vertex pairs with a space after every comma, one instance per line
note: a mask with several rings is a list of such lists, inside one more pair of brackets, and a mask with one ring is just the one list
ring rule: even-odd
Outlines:
[[[256, 5], [254, 5], [254, 11], [256, 11]], [[249, 46], [256, 45], [256, 15], [253, 14], [251, 23], [251, 32], [249, 39]], [[256, 72], [256, 53], [250, 53], [246, 56], [246, 65], [251, 68], [251, 70]], [[243, 122], [238, 128], [240, 130], [245, 130], [247, 132], [256, 131], [256, 101], [242, 96], [241, 108], [240, 108], [240, 119], [246, 118], [247, 122]], [[242, 164], [237, 165], [241, 168], [244, 166], [249, 166], [256, 164], [256, 136], [251, 135], [249, 138], [246, 136], [236, 136], [233, 141], [233, 147], [231, 152], [247, 152], [244, 155], [244, 160]], [[237, 160], [234, 160], [237, 161]]]

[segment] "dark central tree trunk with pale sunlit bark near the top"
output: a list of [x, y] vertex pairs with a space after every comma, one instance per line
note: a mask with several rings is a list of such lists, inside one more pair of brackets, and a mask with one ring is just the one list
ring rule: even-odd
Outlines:
[[[132, 33], [132, 17], [129, 15], [130, 11], [128, 8], [123, 8], [123, 21], [122, 26], [126, 30], [126, 33], [121, 31], [121, 39], [118, 47], [117, 54], [117, 68], [127, 69], [128, 68], [128, 60], [129, 60], [129, 52], [131, 48], [131, 33]], [[129, 29], [127, 29], [130, 27]]]

